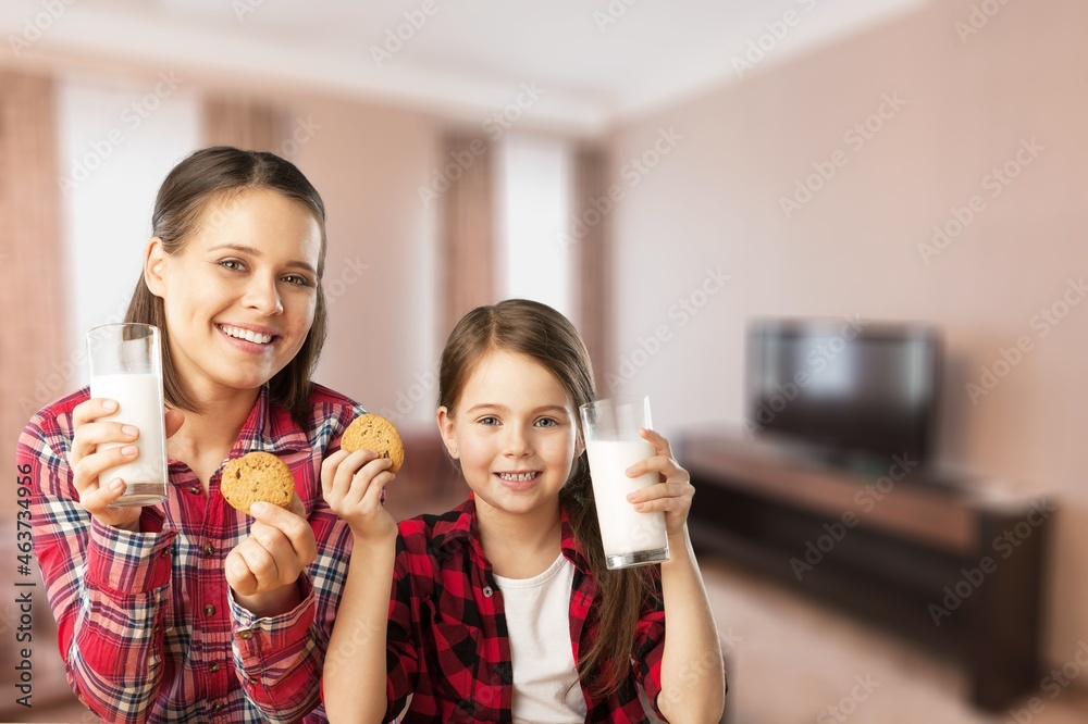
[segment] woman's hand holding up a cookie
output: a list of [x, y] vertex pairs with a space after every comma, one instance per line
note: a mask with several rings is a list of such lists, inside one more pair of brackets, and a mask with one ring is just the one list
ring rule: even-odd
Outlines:
[[313, 528], [296, 495], [287, 510], [257, 502], [249, 536], [226, 556], [226, 582], [238, 603], [257, 616], [286, 613], [301, 602], [298, 576], [318, 558]]

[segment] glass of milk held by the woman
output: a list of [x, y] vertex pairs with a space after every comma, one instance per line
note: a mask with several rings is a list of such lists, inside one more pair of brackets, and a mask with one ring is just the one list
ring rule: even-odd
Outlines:
[[[131, 463], [104, 471], [106, 485], [120, 477], [125, 492], [111, 508], [154, 505], [166, 499], [166, 430], [162, 396], [162, 349], [159, 328], [150, 324], [104, 324], [87, 333], [90, 396], [118, 402], [118, 411], [99, 417], [139, 429], [139, 454]], [[127, 445], [108, 442], [99, 450]]]

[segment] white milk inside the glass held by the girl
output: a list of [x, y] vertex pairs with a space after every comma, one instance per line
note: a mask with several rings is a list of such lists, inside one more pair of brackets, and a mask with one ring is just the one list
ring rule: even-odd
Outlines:
[[[597, 502], [597, 520], [601, 523], [605, 557], [613, 559], [655, 551], [657, 554], [651, 556], [650, 560], [636, 562], [668, 560], [665, 513], [640, 513], [627, 499], [629, 492], [654, 485], [660, 479], [656, 472], [640, 477], [628, 477], [626, 472], [634, 463], [657, 454], [654, 446], [644, 440], [590, 440], [585, 450], [590, 458], [593, 497]], [[608, 567], [617, 567], [614, 562], [616, 561], [609, 560]], [[629, 565], [631, 561], [625, 564]]]

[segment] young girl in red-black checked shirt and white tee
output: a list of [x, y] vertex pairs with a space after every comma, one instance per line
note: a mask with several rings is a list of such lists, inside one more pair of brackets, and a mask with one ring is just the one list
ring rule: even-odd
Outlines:
[[[721, 651], [688, 540], [693, 488], [668, 441], [632, 465], [660, 483], [630, 496], [663, 511], [671, 560], [605, 567], [578, 407], [590, 360], [536, 302], [482, 307], [442, 355], [437, 422], [472, 495], [398, 526], [381, 505], [390, 461], [338, 451], [325, 500], [351, 527], [348, 582], [323, 696], [331, 721], [717, 722]], [[382, 585], [393, 579], [392, 600]], [[666, 628], [668, 636], [666, 636]]]

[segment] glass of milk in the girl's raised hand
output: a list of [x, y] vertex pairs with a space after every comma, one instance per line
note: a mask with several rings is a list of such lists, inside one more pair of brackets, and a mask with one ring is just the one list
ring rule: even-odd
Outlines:
[[630, 465], [657, 454], [654, 446], [639, 436], [640, 428], [653, 427], [650, 398], [597, 400], [583, 404], [579, 413], [608, 567], [625, 569], [669, 560], [665, 513], [639, 512], [627, 499], [629, 492], [660, 480], [656, 472], [627, 476]]

